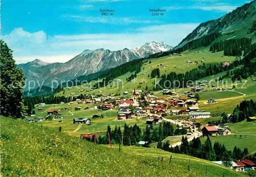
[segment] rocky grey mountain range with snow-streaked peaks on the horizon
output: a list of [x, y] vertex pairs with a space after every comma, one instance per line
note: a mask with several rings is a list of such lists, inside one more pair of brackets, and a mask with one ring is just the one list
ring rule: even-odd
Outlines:
[[[51, 81], [68, 81], [98, 71], [104, 71], [123, 63], [144, 58], [149, 55], [165, 52], [173, 47], [164, 42], [147, 42], [135, 49], [124, 48], [117, 51], [98, 48], [96, 50], [84, 50], [66, 63], [47, 63], [35, 59], [25, 64], [18, 64], [22, 68], [26, 81], [45, 81], [44, 85], [51, 86]], [[26, 88], [25, 88], [26, 89]]]

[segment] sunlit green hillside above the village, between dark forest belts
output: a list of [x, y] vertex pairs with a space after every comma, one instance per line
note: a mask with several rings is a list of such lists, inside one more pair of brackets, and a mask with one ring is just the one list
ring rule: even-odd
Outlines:
[[[202, 50], [208, 50], [208, 48], [202, 48]], [[196, 50], [195, 50], [196, 51]], [[90, 84], [84, 84], [82, 86], [77, 86], [77, 87], [71, 87], [70, 89], [66, 88], [65, 89], [65, 94], [63, 92], [57, 93], [58, 96], [64, 95], [64, 96], [69, 96], [71, 93], [74, 93], [74, 95], [79, 95], [79, 94], [92, 94], [92, 93], [101, 93], [101, 94], [117, 94], [121, 93], [123, 94], [124, 91], [129, 91], [129, 93], [133, 90], [133, 88], [140, 89], [140, 90], [145, 90], [145, 87], [148, 86], [148, 89], [153, 89], [153, 83], [154, 79], [148, 78], [148, 74], [151, 74], [151, 71], [155, 68], [160, 69], [160, 74], [168, 74], [169, 72], [175, 71], [177, 73], [184, 73], [186, 71], [189, 71], [193, 68], [198, 67], [199, 65], [202, 65], [201, 60], [204, 60], [204, 63], [206, 65], [208, 64], [219, 64], [220, 62], [224, 61], [233, 61], [236, 59], [236, 57], [224, 57], [222, 58], [221, 56], [223, 55], [223, 52], [218, 52], [218, 53], [194, 53], [194, 50], [190, 52], [184, 52], [184, 56], [165, 56], [157, 59], [149, 59], [147, 60], [146, 63], [143, 64], [141, 67], [141, 72], [137, 74], [137, 78], [135, 82], [126, 82], [125, 79], [127, 77], [130, 77], [132, 73], [126, 73], [124, 75], [121, 75], [120, 77], [116, 78], [115, 84], [110, 84], [109, 86], [100, 88], [100, 89], [94, 89], [93, 91], [82, 91], [80, 92], [81, 89], [87, 90], [90, 88]], [[205, 59], [203, 59], [205, 57]], [[188, 64], [186, 61], [192, 61], [195, 62], [197, 61], [198, 64]], [[151, 63], [149, 63], [151, 61]], [[162, 64], [163, 66], [158, 66]], [[119, 86], [117, 87], [117, 80], [124, 80], [124, 84], [122, 85], [119, 83]], [[139, 84], [142, 82], [141, 84]], [[95, 83], [95, 82], [93, 82]], [[94, 84], [91, 84], [94, 85]], [[128, 95], [129, 96], [129, 95]]]

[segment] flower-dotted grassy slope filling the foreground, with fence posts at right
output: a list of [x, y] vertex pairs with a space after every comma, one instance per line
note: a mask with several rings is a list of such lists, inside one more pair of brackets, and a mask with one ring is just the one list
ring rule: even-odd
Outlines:
[[[1, 117], [1, 173], [23, 176], [245, 176], [209, 161], [160, 149], [109, 148], [50, 128]], [[164, 161], [158, 157], [164, 157]], [[188, 160], [191, 171], [187, 171]]]

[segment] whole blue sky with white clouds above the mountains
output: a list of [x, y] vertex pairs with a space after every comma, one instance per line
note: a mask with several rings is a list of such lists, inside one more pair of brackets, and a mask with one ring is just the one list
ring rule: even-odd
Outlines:
[[[153, 40], [177, 45], [201, 22], [242, 6], [242, 0], [2, 0], [1, 35], [17, 63], [66, 62], [85, 49], [135, 48]], [[114, 9], [102, 16], [100, 9]], [[152, 16], [149, 9], [166, 9]]]

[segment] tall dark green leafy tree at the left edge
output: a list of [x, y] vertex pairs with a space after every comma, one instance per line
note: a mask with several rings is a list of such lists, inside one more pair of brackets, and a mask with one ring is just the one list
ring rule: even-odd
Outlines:
[[22, 69], [18, 69], [12, 57], [12, 50], [0, 40], [0, 114], [15, 118], [24, 118], [23, 87], [25, 77]]

